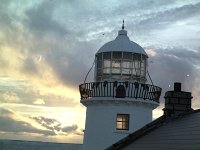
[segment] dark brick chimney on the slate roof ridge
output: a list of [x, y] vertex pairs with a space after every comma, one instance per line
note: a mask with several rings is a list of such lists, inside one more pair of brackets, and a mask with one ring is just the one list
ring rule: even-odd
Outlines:
[[191, 108], [191, 92], [181, 91], [181, 83], [174, 83], [174, 91], [165, 93], [164, 115], [178, 115], [193, 110]]

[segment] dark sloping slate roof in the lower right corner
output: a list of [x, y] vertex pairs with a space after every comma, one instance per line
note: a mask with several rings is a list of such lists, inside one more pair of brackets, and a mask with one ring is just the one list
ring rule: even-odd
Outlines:
[[175, 116], [163, 115], [107, 150], [199, 150], [200, 109]]

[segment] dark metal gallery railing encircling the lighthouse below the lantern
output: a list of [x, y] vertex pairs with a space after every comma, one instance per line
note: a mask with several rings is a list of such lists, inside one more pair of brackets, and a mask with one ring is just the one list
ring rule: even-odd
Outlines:
[[138, 82], [90, 82], [79, 85], [81, 99], [90, 97], [142, 98], [159, 103], [162, 89]]

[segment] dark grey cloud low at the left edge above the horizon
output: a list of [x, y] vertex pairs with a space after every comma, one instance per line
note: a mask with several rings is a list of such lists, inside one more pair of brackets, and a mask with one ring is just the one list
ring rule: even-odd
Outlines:
[[41, 130], [33, 127], [30, 123], [25, 121], [14, 120], [11, 115], [13, 112], [0, 108], [0, 131], [3, 132], [14, 132], [14, 133], [37, 133], [47, 136], [53, 136], [55, 133], [49, 130]]

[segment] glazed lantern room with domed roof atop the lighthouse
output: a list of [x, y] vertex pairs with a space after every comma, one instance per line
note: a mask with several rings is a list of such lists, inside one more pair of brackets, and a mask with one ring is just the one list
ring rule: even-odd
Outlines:
[[95, 80], [145, 83], [147, 58], [144, 49], [130, 41], [122, 26], [116, 39], [104, 44], [96, 53]]

